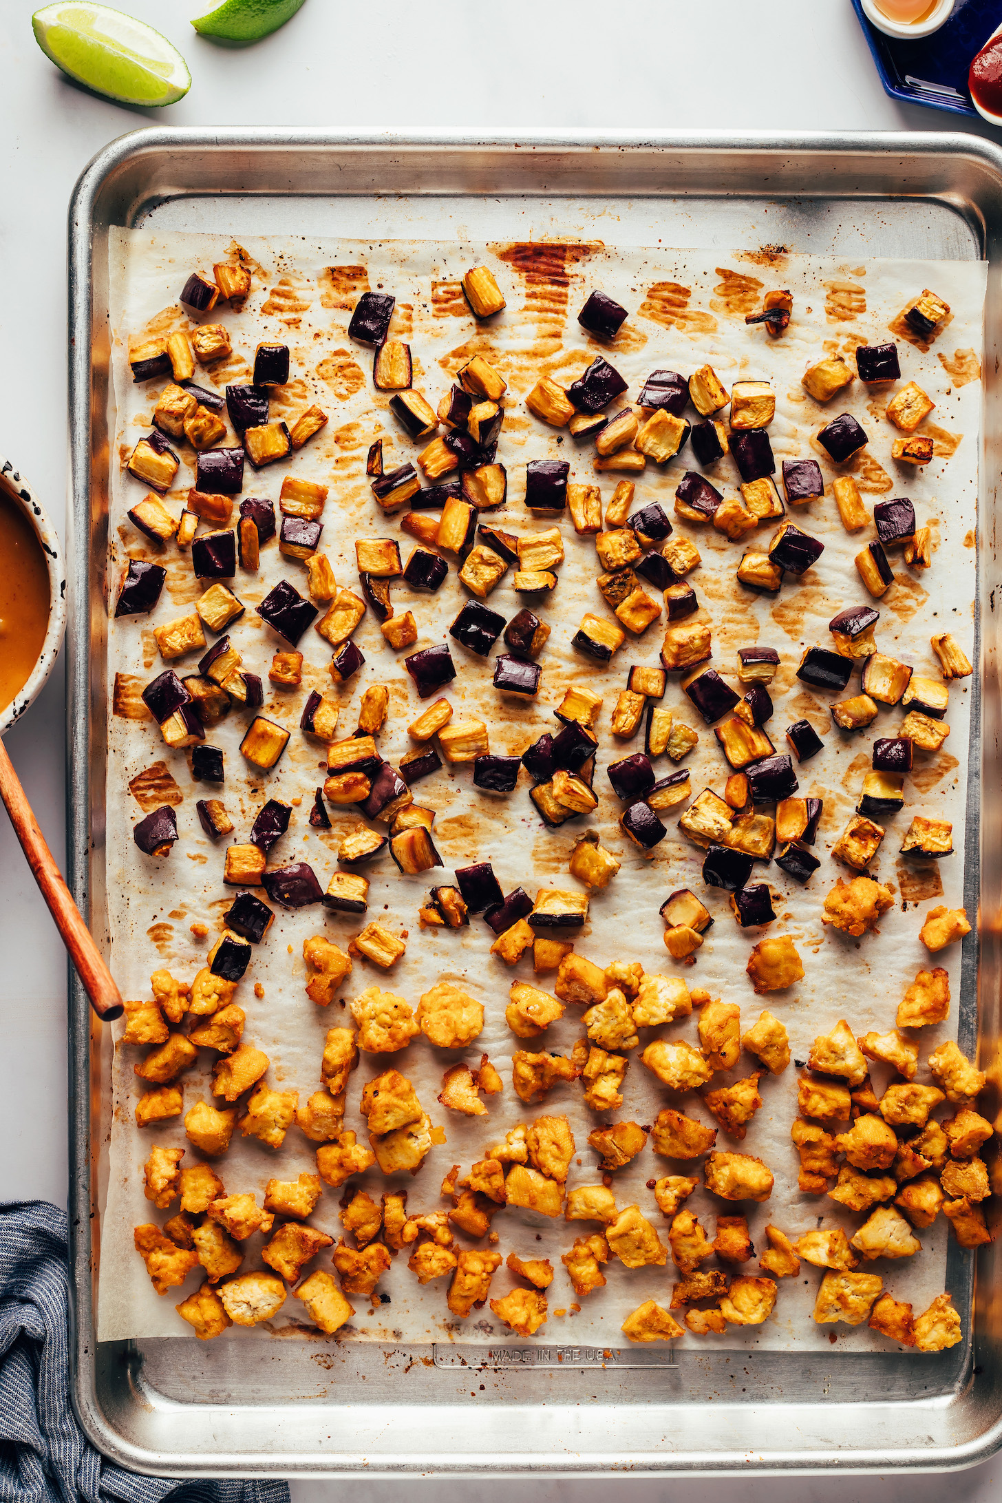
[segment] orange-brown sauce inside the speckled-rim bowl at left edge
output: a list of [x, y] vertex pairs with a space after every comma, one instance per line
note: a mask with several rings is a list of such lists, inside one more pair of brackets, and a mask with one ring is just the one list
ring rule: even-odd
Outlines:
[[42, 544], [18, 504], [0, 491], [0, 709], [42, 655], [50, 603]]

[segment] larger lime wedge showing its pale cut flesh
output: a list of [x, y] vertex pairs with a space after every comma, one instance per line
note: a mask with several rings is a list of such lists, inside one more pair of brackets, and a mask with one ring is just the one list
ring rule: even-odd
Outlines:
[[191, 89], [176, 47], [107, 5], [60, 0], [32, 17], [35, 41], [65, 74], [122, 104], [164, 105]]

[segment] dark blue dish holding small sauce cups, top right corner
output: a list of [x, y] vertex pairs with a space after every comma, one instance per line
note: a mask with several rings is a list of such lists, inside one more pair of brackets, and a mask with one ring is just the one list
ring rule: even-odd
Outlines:
[[892, 99], [981, 119], [967, 93], [967, 69], [996, 26], [1002, 26], [1002, 0], [957, 0], [939, 32], [913, 42], [877, 32], [862, 14], [859, 0], [852, 5], [880, 83]]

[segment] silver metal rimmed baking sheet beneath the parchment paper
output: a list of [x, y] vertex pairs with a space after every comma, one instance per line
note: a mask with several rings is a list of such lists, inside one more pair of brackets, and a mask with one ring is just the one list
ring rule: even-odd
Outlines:
[[[607, 245], [784, 245], [838, 256], [999, 256], [1002, 153], [964, 137], [330, 137], [318, 132], [141, 131], [87, 168], [71, 207], [74, 538], [71, 628], [71, 876], [105, 932], [104, 580], [107, 541], [107, 230], [520, 239], [589, 234]], [[990, 278], [982, 476], [999, 470], [997, 278]], [[994, 828], [997, 767], [994, 490], [979, 496], [981, 622], [969, 837]], [[987, 688], [987, 693], [984, 690]], [[981, 789], [985, 807], [981, 810]], [[963, 1048], [996, 1055], [1002, 863], [976, 840], [969, 912], [982, 914], [981, 971], [967, 942]], [[978, 1021], [979, 1016], [979, 1021]], [[257, 1365], [240, 1344], [98, 1344], [102, 1144], [108, 1040], [71, 992], [71, 1220], [75, 1401], [123, 1465], [206, 1473], [641, 1474], [828, 1467], [961, 1467], [1002, 1441], [994, 1247], [954, 1250], [948, 1287], [973, 1302], [973, 1341], [945, 1356], [679, 1351], [571, 1345], [436, 1350], [275, 1341]], [[997, 1103], [990, 1102], [994, 1112]], [[964, 1300], [964, 1290], [970, 1291]], [[515, 1356], [517, 1353], [517, 1356]], [[611, 1377], [613, 1368], [623, 1368]], [[637, 1371], [646, 1368], [647, 1371]], [[473, 1399], [473, 1405], [470, 1405]], [[463, 1405], [460, 1411], [458, 1405]], [[472, 1413], [475, 1407], [475, 1413]], [[598, 1411], [598, 1413], [596, 1413]], [[766, 1449], [762, 1437], [769, 1437]]]

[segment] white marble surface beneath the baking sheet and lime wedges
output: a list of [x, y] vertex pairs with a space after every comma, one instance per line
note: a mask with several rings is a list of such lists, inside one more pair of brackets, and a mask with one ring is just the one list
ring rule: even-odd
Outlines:
[[[27, 0], [0, 0], [0, 454], [57, 525], [66, 494], [66, 204], [107, 141], [146, 123], [623, 129], [967, 129], [898, 105], [873, 69], [849, 0], [306, 0], [279, 33], [234, 50], [198, 38], [198, 0], [123, 0], [188, 59], [191, 93], [164, 111], [77, 89], [39, 53]], [[778, 57], [777, 57], [778, 54]], [[978, 134], [1000, 138], [988, 126]], [[57, 855], [63, 849], [63, 679], [57, 670], [8, 748]], [[0, 815], [0, 1198], [66, 1195], [65, 957]], [[957, 1503], [999, 1497], [1002, 1464], [954, 1477], [742, 1480], [744, 1503]], [[735, 1480], [629, 1482], [631, 1503], [723, 1503]], [[466, 1482], [412, 1482], [409, 1497], [460, 1503]], [[294, 1483], [296, 1503], [347, 1489]], [[503, 1482], [503, 1503], [599, 1503], [607, 1482]], [[388, 1503], [398, 1483], [352, 1485]]]

